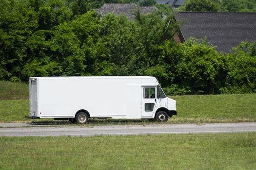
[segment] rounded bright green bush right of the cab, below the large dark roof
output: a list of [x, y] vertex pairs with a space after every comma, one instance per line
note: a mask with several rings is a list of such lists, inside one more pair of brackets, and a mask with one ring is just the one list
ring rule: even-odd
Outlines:
[[177, 82], [189, 86], [193, 94], [216, 94], [220, 88], [219, 75], [223, 74], [223, 58], [206, 39], [198, 43], [189, 39], [182, 45], [177, 64]]

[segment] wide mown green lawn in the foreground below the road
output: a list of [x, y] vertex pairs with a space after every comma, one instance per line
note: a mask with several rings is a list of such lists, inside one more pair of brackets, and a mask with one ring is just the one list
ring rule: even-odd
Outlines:
[[255, 170], [256, 133], [0, 137], [0, 169]]

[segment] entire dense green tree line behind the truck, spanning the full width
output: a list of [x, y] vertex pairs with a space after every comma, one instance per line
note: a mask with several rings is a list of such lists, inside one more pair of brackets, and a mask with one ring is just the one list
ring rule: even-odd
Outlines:
[[[2, 0], [0, 80], [30, 76], [157, 77], [167, 94], [256, 92], [256, 43], [218, 53], [207, 39], [179, 44], [172, 10], [135, 22], [100, 16], [103, 0]], [[163, 19], [163, 13], [167, 18]]]

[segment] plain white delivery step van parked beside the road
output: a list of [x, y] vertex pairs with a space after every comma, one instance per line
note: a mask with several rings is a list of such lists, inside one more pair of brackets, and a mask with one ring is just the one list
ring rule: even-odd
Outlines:
[[30, 119], [167, 121], [177, 115], [176, 101], [149, 76], [30, 77], [29, 100]]

